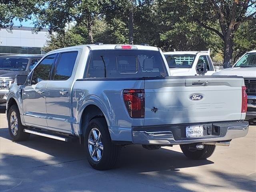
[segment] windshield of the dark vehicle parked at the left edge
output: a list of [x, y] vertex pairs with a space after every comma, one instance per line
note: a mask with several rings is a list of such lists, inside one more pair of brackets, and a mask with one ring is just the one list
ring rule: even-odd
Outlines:
[[28, 58], [0, 58], [0, 69], [11, 71], [24, 71], [28, 64]]

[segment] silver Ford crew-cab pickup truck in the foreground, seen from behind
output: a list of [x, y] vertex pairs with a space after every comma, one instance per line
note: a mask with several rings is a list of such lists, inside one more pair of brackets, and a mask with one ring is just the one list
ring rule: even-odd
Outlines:
[[16, 82], [6, 105], [13, 140], [79, 138], [98, 170], [112, 168], [127, 144], [179, 144], [188, 158], [205, 159], [216, 145], [229, 146], [248, 133], [242, 77], [172, 77], [156, 47], [62, 48]]

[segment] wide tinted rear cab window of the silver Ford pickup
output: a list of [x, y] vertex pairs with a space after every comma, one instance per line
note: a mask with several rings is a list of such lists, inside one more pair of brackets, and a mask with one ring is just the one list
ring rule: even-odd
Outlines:
[[129, 78], [167, 76], [159, 51], [92, 50], [84, 78]]

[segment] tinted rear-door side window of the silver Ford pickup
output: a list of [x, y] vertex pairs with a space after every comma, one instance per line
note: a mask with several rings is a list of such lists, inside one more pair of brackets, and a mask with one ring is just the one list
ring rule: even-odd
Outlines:
[[54, 80], [67, 80], [70, 78], [78, 52], [62, 53], [54, 73]]

